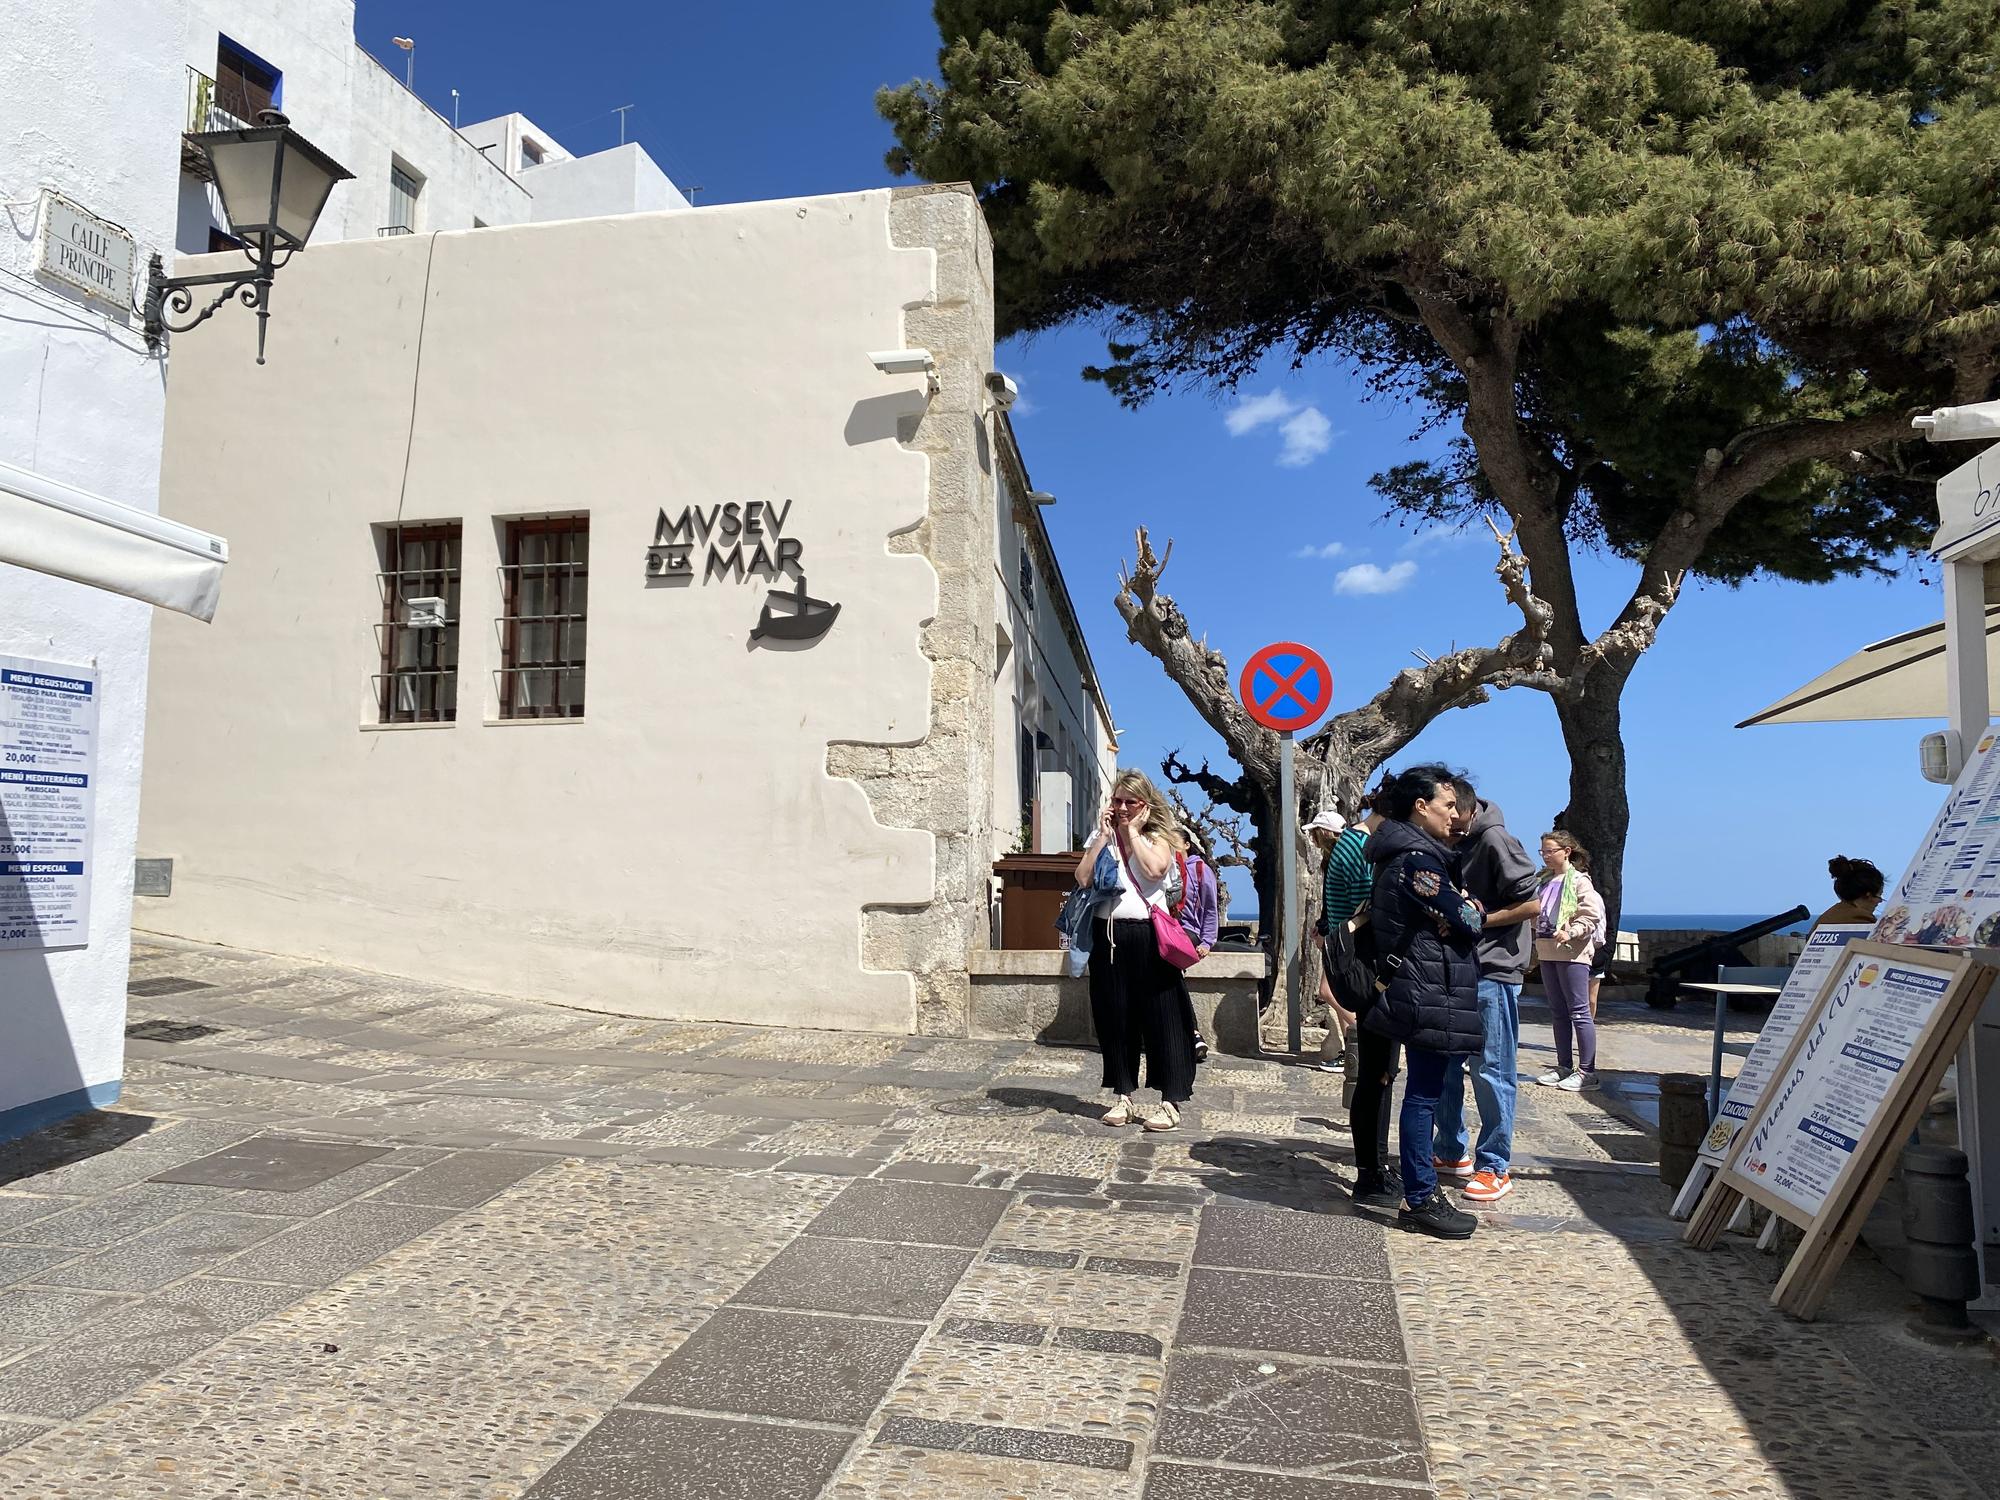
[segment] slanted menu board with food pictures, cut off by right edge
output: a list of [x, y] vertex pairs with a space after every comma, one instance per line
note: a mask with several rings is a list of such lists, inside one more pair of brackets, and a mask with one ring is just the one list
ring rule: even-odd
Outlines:
[[2000, 734], [1988, 730], [1972, 746], [1874, 936], [1916, 948], [2000, 948]]

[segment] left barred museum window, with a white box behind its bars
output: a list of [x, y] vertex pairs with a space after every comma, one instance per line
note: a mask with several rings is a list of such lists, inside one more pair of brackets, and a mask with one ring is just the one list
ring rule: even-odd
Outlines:
[[382, 572], [380, 724], [442, 724], [458, 718], [460, 522], [378, 526]]

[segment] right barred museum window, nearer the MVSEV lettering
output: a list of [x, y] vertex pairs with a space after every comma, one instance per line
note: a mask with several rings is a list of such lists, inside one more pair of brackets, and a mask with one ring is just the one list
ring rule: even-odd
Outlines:
[[590, 516], [506, 522], [500, 718], [582, 718]]

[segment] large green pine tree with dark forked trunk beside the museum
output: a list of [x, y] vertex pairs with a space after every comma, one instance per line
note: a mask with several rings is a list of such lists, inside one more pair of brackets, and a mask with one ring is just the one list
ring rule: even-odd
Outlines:
[[[1402, 674], [1400, 706], [1392, 684], [1312, 746], [1350, 800], [1436, 712], [1546, 690], [1566, 822], [1614, 910], [1620, 698], [1682, 580], [1886, 566], [1932, 524], [1910, 412], [1994, 390], [1996, 0], [938, 0], [936, 20], [942, 82], [878, 100], [890, 164], [978, 186], [1006, 332], [1096, 322], [1092, 374], [1134, 404], [1282, 352], [1460, 428], [1376, 488], [1504, 518], [1524, 630]], [[1636, 574], [1598, 628], [1572, 578], [1592, 546]], [[1262, 760], [1144, 560], [1134, 638]]]

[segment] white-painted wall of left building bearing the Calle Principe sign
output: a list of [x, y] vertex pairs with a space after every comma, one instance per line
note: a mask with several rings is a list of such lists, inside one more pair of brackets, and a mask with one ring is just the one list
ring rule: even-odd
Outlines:
[[[58, 188], [138, 240], [174, 242], [180, 0], [16, 6], [0, 48], [0, 460], [158, 508], [164, 370], [138, 316], [34, 272], [38, 190]], [[88, 96], [92, 104], [80, 104]], [[78, 128], [88, 120], [88, 128]], [[90, 944], [0, 952], [0, 1136], [116, 1098], [124, 1060], [132, 852], [150, 610], [0, 566], [0, 654], [98, 670]]]

